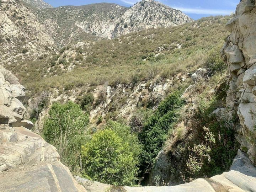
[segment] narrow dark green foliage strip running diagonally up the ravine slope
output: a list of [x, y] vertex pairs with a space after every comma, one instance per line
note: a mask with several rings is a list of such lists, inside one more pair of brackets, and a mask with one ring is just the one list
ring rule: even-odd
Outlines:
[[160, 103], [155, 113], [144, 124], [139, 139], [144, 145], [141, 155], [141, 169], [145, 172], [150, 172], [153, 167], [155, 158], [166, 141], [167, 133], [178, 120], [178, 110], [183, 104], [184, 101], [179, 94], [170, 94]]

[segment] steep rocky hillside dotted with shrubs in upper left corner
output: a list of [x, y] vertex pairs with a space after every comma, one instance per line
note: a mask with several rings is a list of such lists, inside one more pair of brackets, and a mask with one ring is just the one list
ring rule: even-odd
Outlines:
[[39, 22], [36, 10], [22, 1], [2, 0], [0, 16], [1, 64], [15, 65], [57, 52], [54, 39]]

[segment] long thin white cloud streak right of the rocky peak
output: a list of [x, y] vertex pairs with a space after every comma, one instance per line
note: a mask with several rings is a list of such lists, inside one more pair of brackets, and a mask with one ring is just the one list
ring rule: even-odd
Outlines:
[[230, 15], [231, 10], [220, 10], [220, 9], [194, 9], [194, 8], [184, 8], [184, 7], [173, 7], [174, 9], [181, 10], [182, 12], [188, 14], [202, 14], [202, 15]]

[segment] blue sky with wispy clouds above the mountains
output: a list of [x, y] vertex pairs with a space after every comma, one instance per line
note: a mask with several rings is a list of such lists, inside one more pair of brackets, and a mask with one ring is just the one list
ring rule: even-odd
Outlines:
[[[54, 7], [62, 5], [86, 5], [99, 2], [112, 2], [123, 6], [132, 6], [137, 0], [44, 0]], [[159, 0], [175, 9], [179, 9], [198, 19], [210, 15], [229, 15], [235, 12], [236, 5], [240, 0]]]

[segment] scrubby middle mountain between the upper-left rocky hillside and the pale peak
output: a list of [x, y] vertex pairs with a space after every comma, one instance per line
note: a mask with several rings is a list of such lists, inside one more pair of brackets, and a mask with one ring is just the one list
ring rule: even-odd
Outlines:
[[113, 17], [122, 15], [126, 7], [100, 3], [84, 6], [61, 6], [38, 11], [38, 19], [60, 47], [82, 40], [95, 41], [112, 34]]

